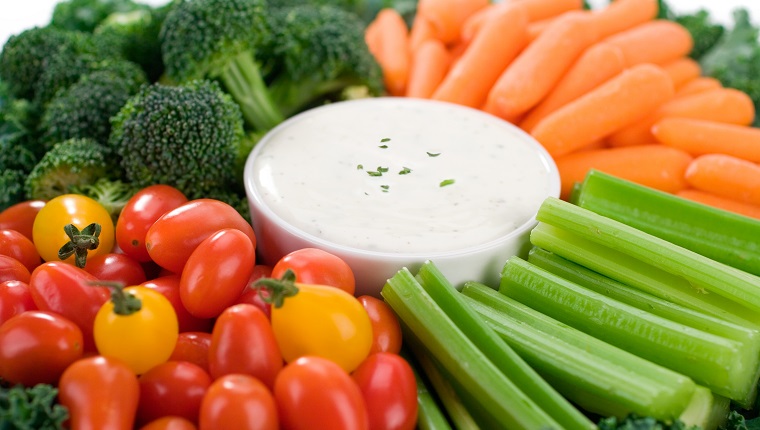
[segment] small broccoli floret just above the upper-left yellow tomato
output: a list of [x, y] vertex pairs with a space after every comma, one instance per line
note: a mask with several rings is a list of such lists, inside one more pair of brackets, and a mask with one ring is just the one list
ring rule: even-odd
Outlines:
[[75, 187], [94, 184], [118, 174], [113, 154], [92, 139], [69, 139], [55, 144], [29, 173], [27, 197], [50, 200]]

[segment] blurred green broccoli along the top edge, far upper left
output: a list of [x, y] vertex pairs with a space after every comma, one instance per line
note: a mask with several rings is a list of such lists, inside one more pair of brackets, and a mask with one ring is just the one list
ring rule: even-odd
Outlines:
[[132, 0], [64, 0], [56, 3], [50, 26], [65, 30], [92, 32], [113, 13], [147, 8]]

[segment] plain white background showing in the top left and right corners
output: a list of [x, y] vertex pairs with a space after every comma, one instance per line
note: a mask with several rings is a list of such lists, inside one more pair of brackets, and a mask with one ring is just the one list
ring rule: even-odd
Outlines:
[[[58, 0], [0, 0], [0, 43], [8, 37], [50, 21], [53, 6]], [[148, 4], [163, 4], [166, 0], [139, 0]], [[607, 4], [607, 0], [590, 0], [594, 6]], [[758, 0], [668, 0], [667, 3], [676, 11], [694, 11], [699, 8], [709, 9], [715, 19], [730, 23], [731, 11], [744, 7], [750, 11], [752, 20], [760, 22], [760, 1]]]

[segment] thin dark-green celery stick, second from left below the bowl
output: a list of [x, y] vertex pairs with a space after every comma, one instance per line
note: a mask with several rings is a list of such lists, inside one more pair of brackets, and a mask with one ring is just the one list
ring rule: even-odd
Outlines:
[[432, 261], [423, 263], [416, 276], [422, 288], [480, 351], [520, 387], [536, 404], [567, 429], [592, 429], [594, 423], [543, 380], [462, 299]]

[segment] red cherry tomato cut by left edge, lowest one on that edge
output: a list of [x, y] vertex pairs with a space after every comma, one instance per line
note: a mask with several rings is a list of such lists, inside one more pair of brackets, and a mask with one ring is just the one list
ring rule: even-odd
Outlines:
[[27, 311], [0, 326], [0, 378], [28, 387], [56, 384], [82, 351], [76, 324], [53, 312]]

